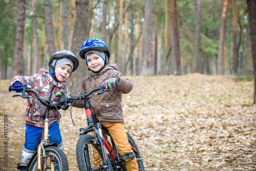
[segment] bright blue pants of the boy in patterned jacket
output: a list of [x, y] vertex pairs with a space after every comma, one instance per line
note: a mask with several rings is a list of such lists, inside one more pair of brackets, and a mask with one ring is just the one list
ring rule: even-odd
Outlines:
[[[25, 133], [26, 142], [24, 144], [25, 148], [33, 151], [36, 150], [37, 144], [40, 141], [40, 138], [42, 135], [42, 130], [43, 130], [42, 127], [34, 127], [34, 126], [26, 125], [26, 133]], [[54, 130], [55, 132], [52, 134]], [[58, 122], [55, 122], [49, 126], [49, 135], [50, 134], [52, 134], [51, 136], [49, 136], [50, 142], [56, 143], [59, 145], [62, 139], [60, 135]]]

